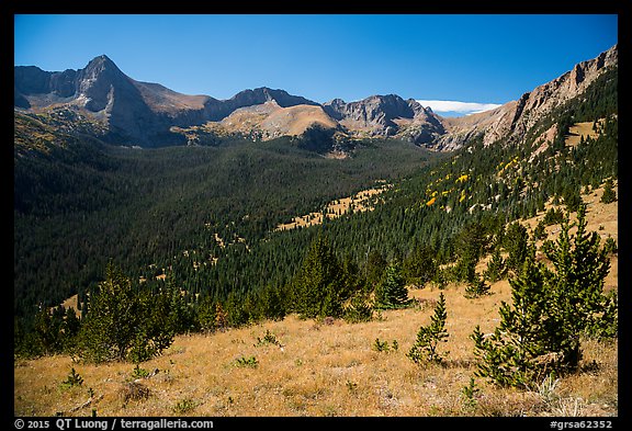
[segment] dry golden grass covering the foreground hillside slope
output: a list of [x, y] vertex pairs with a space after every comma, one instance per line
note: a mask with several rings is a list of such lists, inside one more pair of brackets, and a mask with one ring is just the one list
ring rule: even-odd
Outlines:
[[[617, 238], [617, 203], [601, 204], [601, 191], [584, 196], [588, 228]], [[590, 200], [591, 197], [591, 200]], [[539, 214], [537, 218], [542, 217]], [[537, 219], [526, 222], [534, 227]], [[599, 229], [602, 226], [602, 229]], [[555, 226], [550, 228], [554, 239]], [[477, 271], [485, 269], [479, 263]], [[618, 288], [618, 259], [611, 260], [606, 288]], [[68, 356], [16, 360], [16, 416], [617, 416], [618, 341], [585, 340], [580, 371], [532, 390], [497, 388], [476, 378], [476, 406], [462, 389], [474, 376], [470, 339], [474, 327], [490, 332], [499, 322], [500, 302], [510, 302], [510, 285], [492, 285], [493, 294], [463, 296], [464, 286], [450, 284], [411, 290], [417, 306], [382, 313], [363, 324], [342, 320], [263, 321], [213, 334], [177, 337], [162, 356], [142, 364], [158, 373], [131, 385], [134, 365], [74, 363]], [[421, 325], [430, 321], [439, 293], [447, 302], [449, 353], [442, 365], [418, 366], [406, 353]], [[266, 331], [279, 344], [258, 344]], [[388, 352], [373, 349], [386, 341]], [[393, 341], [398, 349], [393, 351]], [[255, 358], [256, 366], [237, 360]], [[65, 387], [70, 370], [81, 386]], [[90, 400], [90, 402], [88, 402]]]

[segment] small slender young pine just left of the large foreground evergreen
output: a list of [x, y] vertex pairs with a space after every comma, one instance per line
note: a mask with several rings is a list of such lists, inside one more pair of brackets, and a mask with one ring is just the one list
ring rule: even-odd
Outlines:
[[440, 363], [450, 352], [440, 353], [439, 343], [447, 342], [449, 333], [445, 330], [445, 297], [443, 293], [439, 294], [439, 302], [435, 307], [435, 314], [430, 317], [430, 325], [422, 326], [417, 332], [417, 339], [406, 354], [416, 364], [424, 362]]

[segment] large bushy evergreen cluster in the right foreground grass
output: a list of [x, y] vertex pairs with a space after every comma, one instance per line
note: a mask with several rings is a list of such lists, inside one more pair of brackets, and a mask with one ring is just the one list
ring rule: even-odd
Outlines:
[[599, 235], [587, 232], [586, 225], [582, 204], [577, 223], [566, 214], [556, 242], [544, 242], [553, 270], [535, 263], [530, 247], [522, 271], [509, 280], [512, 302], [501, 303], [500, 325], [488, 337], [478, 327], [472, 334], [478, 376], [528, 388], [551, 372], [575, 371], [582, 336], [616, 337], [617, 297], [602, 292], [610, 262]]

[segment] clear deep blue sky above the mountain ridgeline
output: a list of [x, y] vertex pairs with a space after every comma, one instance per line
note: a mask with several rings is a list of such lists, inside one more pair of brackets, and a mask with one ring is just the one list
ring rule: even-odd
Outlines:
[[14, 16], [14, 65], [80, 69], [105, 54], [185, 94], [270, 87], [320, 103], [395, 93], [501, 104], [617, 42], [618, 16], [603, 14]]

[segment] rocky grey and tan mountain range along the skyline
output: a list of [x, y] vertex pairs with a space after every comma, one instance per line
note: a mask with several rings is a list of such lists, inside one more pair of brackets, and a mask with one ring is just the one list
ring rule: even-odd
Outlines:
[[[320, 128], [345, 138], [395, 137], [437, 150], [454, 150], [482, 135], [486, 145], [527, 131], [565, 101], [580, 94], [606, 68], [618, 47], [495, 110], [444, 118], [414, 99], [371, 95], [357, 102], [319, 104], [283, 90], [245, 90], [227, 100], [188, 95], [158, 83], [136, 81], [102, 55], [83, 69], [14, 68], [14, 106], [32, 113], [68, 112], [90, 118], [105, 141], [140, 147], [195, 144], [199, 134], [240, 134], [255, 139], [301, 136]], [[84, 131], [84, 128], [83, 128]]]

